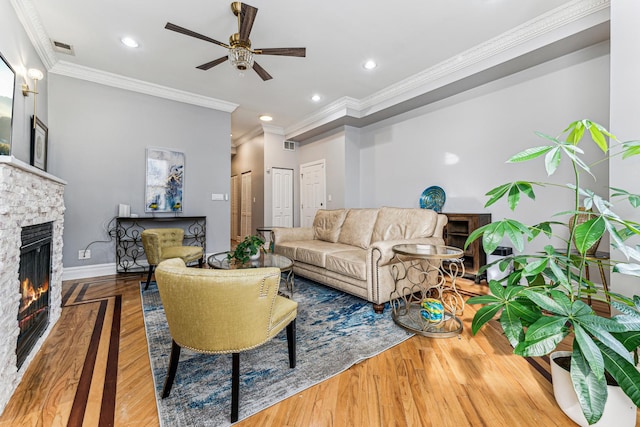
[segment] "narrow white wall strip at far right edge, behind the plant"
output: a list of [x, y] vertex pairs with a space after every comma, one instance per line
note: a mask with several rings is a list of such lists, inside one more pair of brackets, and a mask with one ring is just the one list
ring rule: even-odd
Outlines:
[[[636, 0], [612, 0], [611, 2], [611, 130], [622, 141], [640, 139], [640, 2]], [[609, 171], [612, 187], [623, 188], [640, 194], [638, 179], [639, 158], [627, 160], [614, 158]], [[616, 212], [624, 218], [640, 222], [639, 210], [628, 204], [616, 205]], [[640, 244], [637, 237], [633, 245]], [[626, 262], [620, 252], [614, 259]], [[637, 261], [636, 261], [637, 262]], [[611, 275], [611, 290], [625, 295], [640, 294], [638, 278], [621, 274]]]

